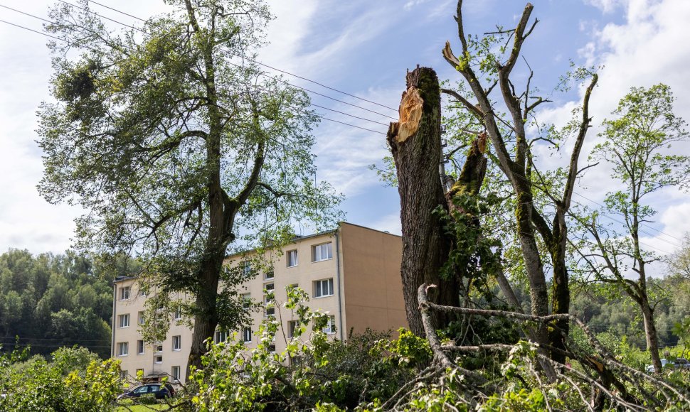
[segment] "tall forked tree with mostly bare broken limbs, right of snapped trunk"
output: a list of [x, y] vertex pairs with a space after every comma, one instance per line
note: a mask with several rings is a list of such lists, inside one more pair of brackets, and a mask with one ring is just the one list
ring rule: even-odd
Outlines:
[[[549, 293], [543, 269], [544, 254], [548, 256], [546, 259], [550, 259], [553, 269], [552, 311], [555, 314], [565, 314], [569, 310], [566, 214], [570, 209], [575, 179], [580, 172], [578, 160], [591, 121], [588, 104], [598, 77], [588, 70], [578, 70], [575, 73], [577, 80], [590, 77], [590, 82], [585, 90], [580, 117], [566, 127], [567, 132], [574, 132], [575, 145], [570, 153], [568, 167], [557, 173], [560, 176], [556, 184], [539, 172], [533, 155], [535, 144], [540, 141], [554, 143], [553, 139], [548, 139], [550, 136], [530, 136], [528, 133], [530, 124], [537, 128], [540, 126], [533, 120], [534, 112], [540, 104], [548, 102], [548, 99], [535, 96], [534, 89], [530, 88], [534, 72], [529, 69], [529, 65], [529, 76], [524, 91], [517, 92], [511, 80], [522, 46], [538, 23], [538, 20], [529, 23], [532, 10], [531, 4], [525, 6], [514, 29], [504, 30], [499, 27], [497, 32], [487, 33], [479, 38], [465, 35], [462, 0], [459, 0], [455, 20], [462, 51], [460, 55], [455, 55], [450, 42], [447, 42], [442, 54], [447, 63], [460, 72], [469, 86], [470, 93], [463, 95], [455, 90], [442, 91], [450, 94], [484, 128], [494, 148], [490, 158], [497, 163], [509, 180], [514, 207], [514, 229], [529, 283], [531, 313], [545, 316], [549, 313]], [[493, 100], [491, 94], [496, 86], [499, 87], [500, 99], [507, 112], [501, 110]], [[477, 103], [471, 102], [472, 99], [476, 99]], [[551, 210], [540, 210], [538, 197], [547, 197]], [[552, 222], [548, 222], [549, 216], [553, 216]], [[540, 249], [538, 237], [541, 237], [546, 251]], [[556, 326], [559, 330], [554, 329], [549, 335], [547, 325], [540, 324], [534, 331], [534, 337], [542, 345], [540, 350], [544, 350], [544, 345], [554, 347], [555, 350], [551, 352], [552, 359], [562, 362], [565, 360], [562, 354], [565, 345], [563, 336], [568, 334], [568, 322], [561, 320], [556, 322]]]

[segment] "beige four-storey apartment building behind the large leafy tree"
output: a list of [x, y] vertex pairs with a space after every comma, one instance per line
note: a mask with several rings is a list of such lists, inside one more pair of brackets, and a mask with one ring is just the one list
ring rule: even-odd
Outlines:
[[[248, 348], [256, 345], [255, 332], [274, 313], [290, 339], [290, 313], [282, 308], [285, 288], [299, 286], [309, 293], [309, 306], [330, 316], [327, 332], [344, 340], [350, 330], [397, 330], [407, 327], [403, 287], [400, 280], [402, 239], [356, 224], [342, 222], [331, 232], [296, 237], [273, 259], [272, 271], [258, 273], [241, 286], [245, 298], [265, 302], [264, 291], [274, 291], [275, 308], [253, 313], [251, 325], [238, 332], [238, 339]], [[245, 254], [228, 257], [228, 264], [243, 264]], [[116, 281], [113, 302], [112, 357], [122, 361], [123, 374], [144, 376], [169, 374], [184, 381], [186, 361], [191, 347], [191, 329], [171, 316], [164, 342], [144, 343], [140, 325], [149, 296], [137, 278]], [[179, 297], [171, 297], [176, 299]], [[228, 333], [216, 332], [216, 341]], [[285, 339], [275, 339], [275, 349], [285, 349]]]

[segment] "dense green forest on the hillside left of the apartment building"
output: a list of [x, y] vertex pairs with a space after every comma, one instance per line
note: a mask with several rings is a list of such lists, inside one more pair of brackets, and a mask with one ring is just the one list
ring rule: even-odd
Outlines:
[[[10, 249], [0, 256], [0, 343], [34, 354], [80, 345], [110, 357], [113, 273], [68, 251]], [[16, 339], [18, 337], [18, 340]]]

